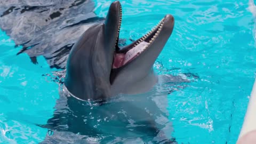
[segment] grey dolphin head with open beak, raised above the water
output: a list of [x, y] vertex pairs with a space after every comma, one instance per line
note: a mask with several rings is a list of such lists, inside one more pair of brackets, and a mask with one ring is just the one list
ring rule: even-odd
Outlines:
[[121, 21], [122, 8], [116, 1], [111, 3], [105, 23], [87, 29], [71, 49], [65, 86], [74, 97], [105, 99], [113, 94], [113, 85], [125, 87], [140, 81], [153, 67], [174, 26], [168, 14], [148, 34], [119, 49]]

